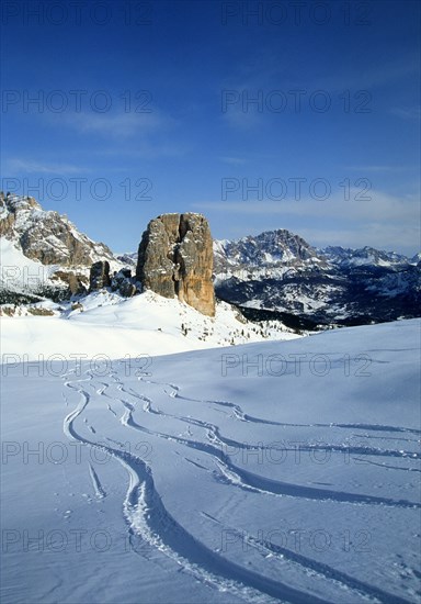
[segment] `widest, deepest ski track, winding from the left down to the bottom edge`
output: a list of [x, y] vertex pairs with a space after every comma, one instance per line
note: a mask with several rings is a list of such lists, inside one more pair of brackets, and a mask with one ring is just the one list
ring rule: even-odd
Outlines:
[[86, 410], [90, 401], [87, 390], [79, 389], [70, 382], [66, 385], [79, 392], [80, 402], [64, 421], [64, 432], [69, 439], [82, 445], [106, 451], [116, 459], [129, 477], [128, 490], [123, 503], [124, 516], [129, 526], [129, 535], [140, 536], [149, 545], [190, 571], [198, 580], [219, 590], [229, 591], [246, 597], [249, 602], [266, 602], [266, 594], [276, 600], [288, 597], [289, 602], [322, 603], [319, 599], [309, 599], [305, 593], [266, 580], [258, 573], [228, 562], [203, 544], [197, 541], [164, 508], [153, 484], [150, 468], [138, 457], [105, 445], [99, 445], [83, 438], [76, 430], [73, 423]]

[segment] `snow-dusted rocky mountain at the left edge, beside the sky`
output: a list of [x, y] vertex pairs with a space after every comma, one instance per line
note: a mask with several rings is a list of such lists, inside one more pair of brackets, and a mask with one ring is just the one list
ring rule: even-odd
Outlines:
[[115, 271], [124, 267], [105, 244], [32, 197], [0, 193], [0, 241], [1, 303], [86, 293], [93, 262], [106, 260]]

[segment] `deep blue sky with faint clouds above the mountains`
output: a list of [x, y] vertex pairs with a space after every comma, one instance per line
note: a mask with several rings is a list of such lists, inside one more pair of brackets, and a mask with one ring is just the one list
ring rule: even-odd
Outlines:
[[2, 188], [116, 251], [186, 211], [419, 251], [420, 5], [296, 4], [4, 0]]

